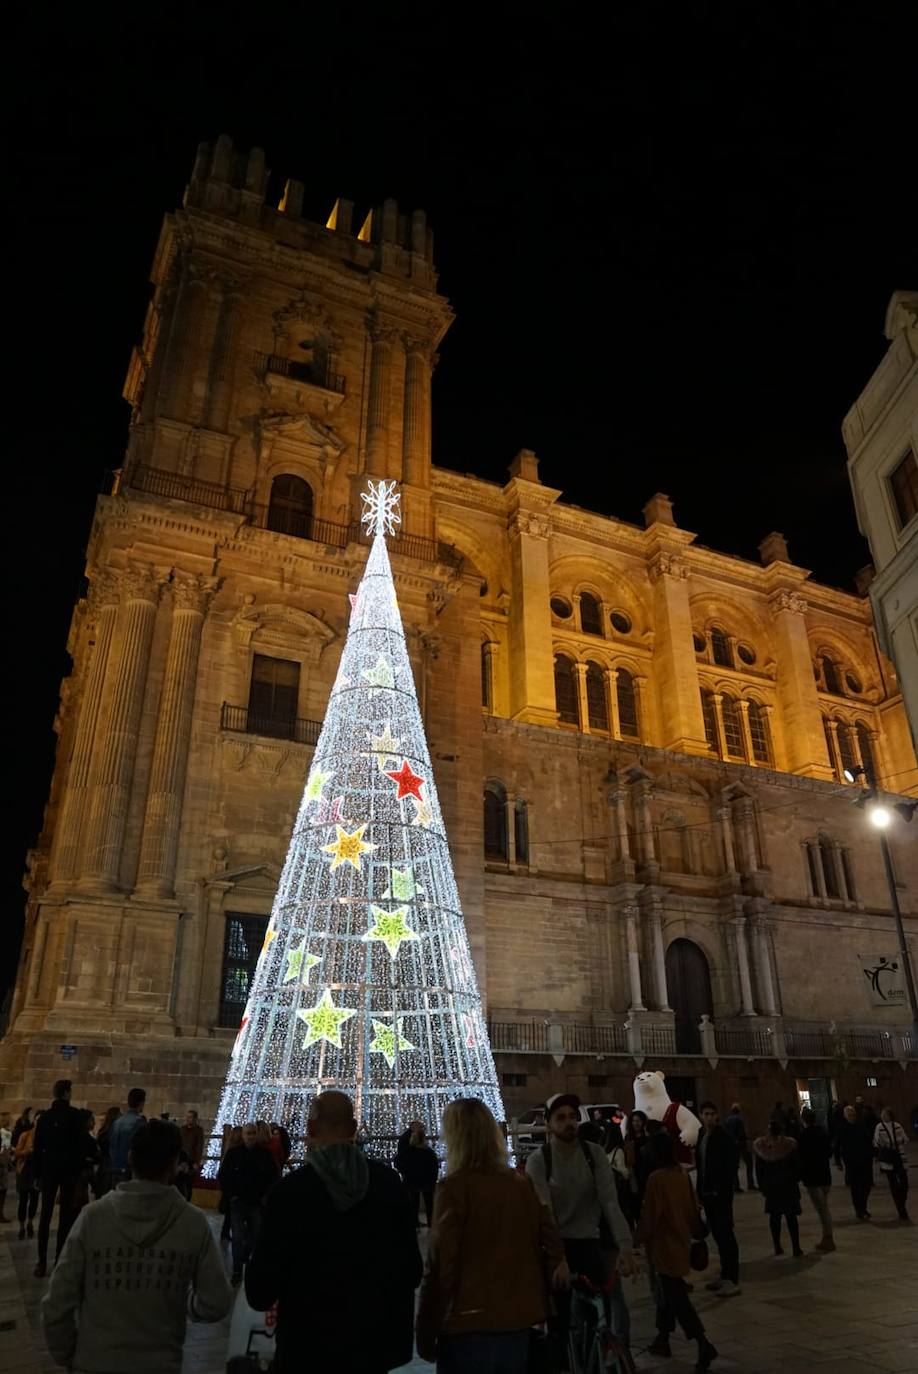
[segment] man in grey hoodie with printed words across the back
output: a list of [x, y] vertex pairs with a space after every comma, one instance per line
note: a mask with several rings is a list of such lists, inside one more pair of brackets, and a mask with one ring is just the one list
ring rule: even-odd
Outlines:
[[180, 1374], [186, 1314], [219, 1322], [232, 1307], [203, 1212], [172, 1186], [181, 1135], [139, 1125], [131, 1183], [84, 1208], [41, 1304], [48, 1351], [74, 1374]]

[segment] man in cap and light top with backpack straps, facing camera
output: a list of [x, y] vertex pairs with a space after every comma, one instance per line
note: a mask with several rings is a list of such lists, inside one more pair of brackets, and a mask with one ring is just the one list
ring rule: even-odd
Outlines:
[[[616, 1180], [605, 1151], [581, 1139], [579, 1129], [580, 1098], [573, 1092], [550, 1098], [546, 1103], [547, 1140], [526, 1160], [526, 1173], [561, 1231], [570, 1274], [583, 1274], [598, 1289], [614, 1278], [609, 1293], [612, 1326], [628, 1345], [631, 1316], [620, 1275], [635, 1272], [631, 1231], [618, 1205]], [[565, 1351], [570, 1300], [563, 1293], [558, 1293], [557, 1300], [557, 1337]]]

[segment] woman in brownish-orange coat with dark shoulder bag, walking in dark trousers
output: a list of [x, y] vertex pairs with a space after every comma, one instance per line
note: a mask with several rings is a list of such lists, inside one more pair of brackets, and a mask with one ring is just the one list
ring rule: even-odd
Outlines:
[[635, 1239], [647, 1253], [656, 1274], [657, 1338], [647, 1347], [651, 1355], [672, 1355], [669, 1336], [682, 1326], [690, 1341], [698, 1341], [695, 1370], [710, 1369], [717, 1358], [701, 1318], [691, 1305], [686, 1274], [691, 1265], [691, 1242], [702, 1234], [701, 1215], [688, 1175], [675, 1162], [672, 1136], [657, 1131], [647, 1146], [647, 1189]]

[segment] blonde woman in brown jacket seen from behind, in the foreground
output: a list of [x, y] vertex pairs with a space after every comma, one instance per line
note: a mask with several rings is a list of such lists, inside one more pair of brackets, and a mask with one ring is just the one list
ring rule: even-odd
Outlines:
[[569, 1282], [561, 1235], [529, 1179], [507, 1164], [484, 1102], [443, 1116], [447, 1178], [437, 1186], [418, 1353], [437, 1374], [525, 1374], [529, 1330], [547, 1316], [546, 1272]]

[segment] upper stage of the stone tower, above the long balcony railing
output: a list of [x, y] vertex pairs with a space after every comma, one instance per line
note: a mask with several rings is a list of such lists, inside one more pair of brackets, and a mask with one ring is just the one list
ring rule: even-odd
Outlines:
[[125, 386], [125, 480], [214, 484], [257, 508], [283, 471], [309, 485], [315, 519], [348, 523], [364, 475], [385, 475], [404, 486], [405, 532], [433, 539], [430, 376], [452, 313], [425, 212], [383, 201], [357, 223], [338, 199], [315, 224], [300, 181], [265, 203], [268, 176], [260, 148], [201, 144], [165, 218]]

